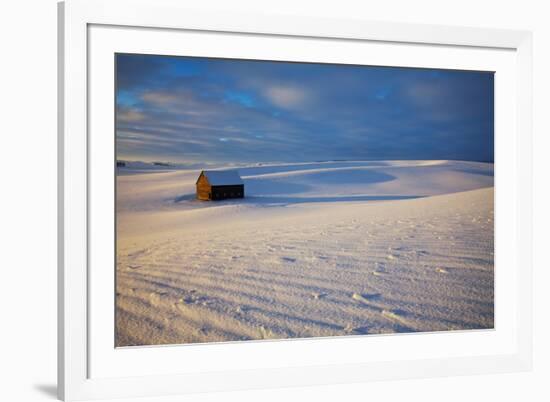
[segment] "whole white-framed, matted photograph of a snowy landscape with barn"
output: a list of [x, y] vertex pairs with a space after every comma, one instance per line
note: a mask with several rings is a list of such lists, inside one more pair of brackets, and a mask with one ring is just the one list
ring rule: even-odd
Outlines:
[[529, 32], [71, 0], [59, 49], [60, 398], [530, 369]]

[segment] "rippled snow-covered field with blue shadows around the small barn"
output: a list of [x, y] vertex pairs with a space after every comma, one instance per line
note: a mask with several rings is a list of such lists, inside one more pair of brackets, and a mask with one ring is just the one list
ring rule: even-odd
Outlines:
[[119, 169], [117, 346], [493, 327], [492, 164], [238, 170]]

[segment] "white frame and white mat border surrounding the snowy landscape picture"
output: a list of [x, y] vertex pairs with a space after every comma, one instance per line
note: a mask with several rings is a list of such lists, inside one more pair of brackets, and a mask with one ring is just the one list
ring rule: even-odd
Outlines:
[[[131, 13], [128, 12], [129, 10]], [[103, 29], [103, 33], [96, 34], [98, 28]], [[115, 34], [117, 29], [122, 29], [123, 33]], [[143, 33], [144, 30], [145, 33]], [[89, 211], [91, 203], [96, 202], [94, 200], [98, 194], [96, 191], [90, 192], [90, 170], [92, 165], [95, 169], [97, 166], [95, 161], [101, 161], [103, 153], [103, 151], [100, 154], [95, 151], [93, 154], [90, 152], [94, 144], [92, 140], [96, 138], [93, 136], [97, 136], [93, 134], [97, 125], [90, 124], [92, 117], [96, 116], [90, 113], [90, 105], [96, 102], [93, 98], [96, 95], [92, 96], [92, 93], [102, 92], [98, 88], [101, 80], [95, 78], [99, 76], [94, 75], [93, 80], [90, 77], [95, 61], [101, 60], [95, 56], [95, 49], [101, 49], [107, 54], [116, 52], [120, 50], [117, 48], [118, 44], [125, 43], [124, 41], [131, 43], [132, 39], [129, 36], [126, 37], [126, 34], [130, 35], [134, 31], [144, 35], [140, 37], [140, 46], [150, 42], [148, 46], [151, 52], [155, 50], [153, 49], [155, 41], [159, 41], [156, 35], [164, 35], [167, 38], [159, 51], [171, 52], [173, 48], [170, 48], [170, 36], [180, 33], [200, 36], [202, 33], [217, 35], [220, 38], [223, 36], [253, 37], [260, 42], [279, 39], [294, 40], [298, 43], [300, 40], [312, 41], [312, 43], [316, 40], [330, 42], [335, 50], [334, 57], [342, 57], [338, 56], [339, 47], [362, 43], [388, 49], [392, 46], [400, 46], [403, 49], [412, 46], [416, 47], [414, 49], [418, 52], [426, 49], [427, 56], [431, 52], [428, 48], [433, 48], [434, 51], [449, 49], [450, 61], [447, 63], [455, 63], [457, 67], [466, 69], [468, 66], [481, 68], [484, 66], [483, 63], [488, 63], [490, 68], [491, 59], [499, 59], [498, 52], [506, 53], [499, 59], [500, 61], [494, 62], [494, 65], [498, 66], [495, 67], [497, 72], [502, 68], [500, 76], [506, 81], [503, 83], [503, 90], [496, 93], [495, 102], [497, 104], [500, 102], [499, 96], [504, 95], [506, 88], [512, 91], [508, 92], [513, 95], [508, 99], [508, 103], [501, 103], [506, 104], [505, 107], [508, 108], [506, 110], [510, 111], [507, 113], [509, 115], [507, 118], [512, 118], [507, 121], [513, 124], [504, 129], [502, 124], [499, 125], [499, 122], [496, 122], [502, 138], [500, 144], [507, 145], [501, 145], [500, 151], [497, 145], [496, 165], [505, 161], [501, 162], [500, 166], [506, 166], [506, 168], [500, 170], [500, 179], [499, 170], [496, 171], [495, 221], [497, 239], [501, 232], [513, 234], [507, 238], [506, 243], [506, 248], [511, 253], [506, 274], [509, 279], [508, 286], [503, 287], [500, 293], [497, 289], [499, 300], [507, 300], [506, 304], [501, 303], [500, 314], [510, 318], [509, 325], [506, 323], [499, 327], [497, 317], [495, 330], [489, 335], [467, 331], [468, 333], [420, 334], [414, 335], [414, 339], [412, 337], [407, 339], [407, 336], [403, 335], [393, 338], [350, 337], [345, 342], [325, 339], [256, 342], [247, 343], [244, 347], [242, 345], [193, 345], [176, 346], [172, 347], [173, 349], [142, 348], [131, 351], [131, 356], [130, 352], [124, 352], [122, 363], [118, 362], [116, 360], [118, 356], [113, 357], [113, 353], [121, 354], [113, 352], [114, 349], [104, 350], [108, 349], [108, 345], [97, 341], [103, 337], [102, 333], [111, 338], [112, 334], [107, 332], [108, 325], [104, 327], [101, 323], [97, 324], [97, 320], [101, 320], [97, 318], [97, 311], [101, 311], [99, 309], [102, 307], [97, 304], [97, 297], [93, 295], [98, 287], [103, 285], [95, 279], [95, 274], [92, 275], [90, 270], [90, 260], [94, 258], [89, 247], [90, 239], [97, 234], [90, 233]], [[105, 38], [113, 40], [108, 41]], [[212, 50], [209, 50], [207, 45], [208, 42], [205, 41], [204, 52], [209, 54], [208, 52]], [[131, 49], [137, 49], [135, 46], [128, 46]], [[60, 3], [59, 397], [64, 400], [145, 397], [529, 370], [532, 361], [531, 48], [531, 33], [525, 31], [360, 20], [322, 20], [226, 12], [206, 13], [188, 9], [177, 0], [69, 0]], [[231, 55], [231, 49], [224, 51]], [[453, 52], [456, 53], [454, 56]], [[382, 50], [381, 54], [390, 53], [390, 50], [385, 52]], [[472, 54], [468, 58], [464, 57], [466, 53]], [[395, 61], [391, 61], [392, 65], [411, 63], [414, 66], [420, 66], [419, 63], [429, 63], [418, 60], [407, 61], [407, 57], [411, 57], [410, 54], [400, 52], [399, 57], [396, 56]], [[279, 57], [285, 56], [283, 54]], [[476, 57], [479, 58], [477, 62]], [[463, 65], [456, 64], [459, 63], [459, 58], [464, 59]], [[428, 59], [429, 57], [426, 57], [426, 60]], [[498, 77], [499, 75], [497, 75], [497, 81]], [[112, 91], [112, 87], [104, 88], [103, 91]], [[100, 119], [104, 118], [100, 117]], [[111, 123], [108, 122], [108, 124]], [[109, 134], [105, 135], [108, 138]], [[499, 141], [496, 142], [499, 143]], [[502, 155], [500, 158], [499, 153]], [[110, 159], [108, 152], [105, 152], [104, 157]], [[505, 195], [509, 202], [499, 203], [499, 192]], [[99, 194], [99, 196], [102, 195]], [[504, 216], [508, 218], [505, 219]], [[107, 229], [95, 226], [94, 230]], [[504, 235], [501, 236], [501, 238], [504, 237]], [[498, 270], [498, 255], [496, 258], [495, 265]], [[96, 280], [93, 282], [94, 287], [90, 286], [92, 278]], [[105, 286], [109, 290], [109, 287]], [[499, 304], [495, 308], [498, 312]], [[367, 348], [369, 344], [373, 347], [375, 342], [384, 343], [386, 344], [384, 347], [390, 347], [402, 337], [405, 337], [405, 341], [400, 348], [410, 349], [410, 345], [414, 344], [417, 349], [414, 355], [397, 354], [386, 360], [384, 358], [369, 360], [360, 353], [355, 353], [356, 356], [353, 359], [315, 358], [319, 355], [319, 348], [332, 348], [340, 352], [357, 350], [358, 347]], [[437, 345], [445, 348], [445, 342], [458, 342], [461, 346], [456, 348], [452, 356], [441, 357], [442, 354], [436, 353]], [[494, 349], [488, 348], [484, 342], [497, 345], [498, 348], [496, 346]], [[434, 345], [434, 350], [430, 351], [431, 347], [428, 345]], [[401, 349], [397, 348], [397, 350]], [[179, 372], [174, 367], [174, 362], [167, 364], [168, 368], [164, 371], [140, 371], [138, 367], [140, 360], [154, 362], [153, 366], [156, 366], [163, 359], [169, 359], [169, 355], [175, 356], [180, 352], [188, 355], [191, 353], [195, 359], [201, 360], [201, 369]], [[296, 359], [302, 360], [295, 359], [285, 364], [280, 360], [265, 361], [264, 359], [259, 364], [253, 359], [254, 356], [284, 356], [285, 353], [296, 355], [298, 356]], [[227, 363], [235, 356], [241, 356], [242, 362], [239, 365]], [[250, 358], [248, 359], [247, 356]], [[345, 353], [344, 356], [346, 356]], [[223, 357], [226, 363], [216, 362], [216, 357]], [[124, 363], [125, 359], [126, 363]], [[97, 361], [101, 364], [92, 364]]]

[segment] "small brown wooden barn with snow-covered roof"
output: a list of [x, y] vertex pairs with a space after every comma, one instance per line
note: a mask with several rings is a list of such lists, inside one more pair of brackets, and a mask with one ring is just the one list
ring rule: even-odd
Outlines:
[[244, 182], [236, 170], [203, 170], [197, 179], [197, 199], [244, 198]]

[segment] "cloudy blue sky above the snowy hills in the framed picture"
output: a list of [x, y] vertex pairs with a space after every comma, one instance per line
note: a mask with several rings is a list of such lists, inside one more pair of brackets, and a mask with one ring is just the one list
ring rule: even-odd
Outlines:
[[116, 55], [117, 159], [493, 162], [492, 72]]

